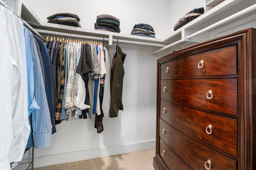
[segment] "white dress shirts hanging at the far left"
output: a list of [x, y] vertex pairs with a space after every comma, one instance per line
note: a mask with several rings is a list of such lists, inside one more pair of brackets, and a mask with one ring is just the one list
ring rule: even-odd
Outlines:
[[9, 170], [10, 162], [19, 161], [20, 155], [23, 155], [26, 145], [23, 135], [29, 134], [29, 128], [24, 131], [25, 122], [28, 122], [24, 117], [24, 112], [28, 113], [28, 105], [24, 104], [27, 96], [24, 98], [23, 71], [26, 70], [22, 68], [21, 46], [17, 34], [17, 30], [23, 33], [23, 27], [15, 23], [12, 12], [3, 6], [0, 6], [0, 22], [0, 38], [4, 40], [0, 43], [0, 47], [4, 49], [0, 50], [0, 77], [4, 80], [0, 82], [0, 169]]

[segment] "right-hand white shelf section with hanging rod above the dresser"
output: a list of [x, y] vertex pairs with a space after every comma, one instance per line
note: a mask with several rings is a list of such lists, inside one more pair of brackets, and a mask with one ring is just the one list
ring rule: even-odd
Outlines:
[[169, 42], [169, 45], [151, 54], [154, 55], [174, 45], [188, 46], [192, 43], [209, 40], [211, 31], [256, 14], [255, 4], [255, 0], [225, 0], [210, 11], [205, 12], [198, 18], [164, 37], [162, 41], [164, 43]]

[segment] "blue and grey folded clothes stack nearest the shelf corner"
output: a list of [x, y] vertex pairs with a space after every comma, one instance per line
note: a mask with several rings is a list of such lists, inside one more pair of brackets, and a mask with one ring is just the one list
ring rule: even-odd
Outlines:
[[153, 38], [156, 38], [155, 34], [156, 33], [154, 32], [154, 28], [146, 23], [135, 24], [131, 32], [131, 35], [139, 35]]

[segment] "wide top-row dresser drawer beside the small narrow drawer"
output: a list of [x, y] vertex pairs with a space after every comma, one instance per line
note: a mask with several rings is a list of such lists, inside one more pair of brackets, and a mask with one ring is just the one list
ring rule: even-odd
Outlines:
[[225, 47], [181, 59], [181, 76], [237, 74], [236, 46]]

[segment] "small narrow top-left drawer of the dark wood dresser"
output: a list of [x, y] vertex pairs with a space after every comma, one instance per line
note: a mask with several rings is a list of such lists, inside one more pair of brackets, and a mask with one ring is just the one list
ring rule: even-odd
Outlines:
[[161, 78], [172, 78], [180, 76], [180, 60], [173, 60], [161, 64]]

